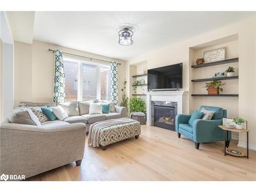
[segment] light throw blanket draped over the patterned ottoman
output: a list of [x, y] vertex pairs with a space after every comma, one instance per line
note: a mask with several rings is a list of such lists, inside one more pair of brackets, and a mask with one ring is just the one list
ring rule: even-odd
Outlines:
[[130, 118], [120, 118], [120, 119], [110, 119], [106, 121], [96, 122], [91, 124], [89, 129], [89, 139], [88, 139], [88, 145], [92, 147], [98, 147], [99, 146], [99, 133], [100, 130], [113, 126], [113, 125], [119, 125], [123, 123], [130, 123], [134, 122], [136, 120], [130, 119]]

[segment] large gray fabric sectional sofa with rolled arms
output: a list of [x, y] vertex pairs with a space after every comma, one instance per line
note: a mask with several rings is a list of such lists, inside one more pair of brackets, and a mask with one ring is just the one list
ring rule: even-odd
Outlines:
[[115, 106], [115, 113], [89, 115], [92, 102], [21, 102], [28, 106], [61, 105], [69, 117], [40, 126], [10, 123], [8, 119], [0, 124], [0, 175], [28, 178], [73, 161], [80, 165], [89, 125], [126, 115], [126, 108], [121, 106]]

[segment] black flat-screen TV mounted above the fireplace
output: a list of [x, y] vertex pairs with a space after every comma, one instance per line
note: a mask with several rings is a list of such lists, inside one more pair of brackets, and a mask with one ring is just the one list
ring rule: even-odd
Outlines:
[[147, 70], [148, 90], [180, 88], [182, 88], [182, 63]]

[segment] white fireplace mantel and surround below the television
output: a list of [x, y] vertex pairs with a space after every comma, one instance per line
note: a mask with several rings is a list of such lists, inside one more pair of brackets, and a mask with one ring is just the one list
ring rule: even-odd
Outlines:
[[146, 95], [146, 125], [152, 126], [152, 101], [177, 102], [177, 114], [182, 113], [185, 91], [151, 91], [144, 94]]

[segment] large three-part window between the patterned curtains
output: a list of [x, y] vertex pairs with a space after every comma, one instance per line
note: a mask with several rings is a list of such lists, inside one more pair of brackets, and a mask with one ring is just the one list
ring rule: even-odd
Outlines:
[[66, 101], [110, 100], [110, 66], [63, 58]]

